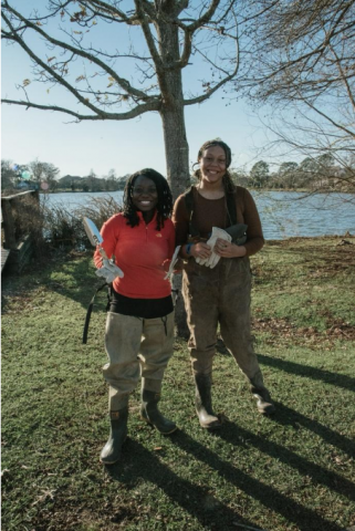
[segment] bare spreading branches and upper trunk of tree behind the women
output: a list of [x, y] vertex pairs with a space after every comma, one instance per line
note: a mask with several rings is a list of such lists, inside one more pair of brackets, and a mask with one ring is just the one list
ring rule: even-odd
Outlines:
[[[2, 39], [32, 61], [20, 97], [8, 104], [64, 113], [75, 121], [123, 121], [159, 113], [167, 176], [177, 195], [189, 181], [184, 107], [236, 79], [240, 64], [232, 0], [49, 0], [38, 10], [2, 1]], [[197, 72], [189, 77], [182, 71]], [[194, 69], [194, 70], [192, 70]], [[34, 84], [70, 97], [44, 104]], [[64, 103], [61, 103], [64, 102]]]

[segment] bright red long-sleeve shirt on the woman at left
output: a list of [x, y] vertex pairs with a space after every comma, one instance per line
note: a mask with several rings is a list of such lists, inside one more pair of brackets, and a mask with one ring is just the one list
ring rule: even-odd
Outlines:
[[[175, 229], [170, 219], [156, 230], [156, 215], [146, 225], [142, 212], [137, 212], [139, 225], [130, 227], [123, 214], [109, 218], [102, 227], [102, 244], [108, 258], [123, 270], [124, 277], [116, 278], [113, 288], [117, 293], [132, 299], [161, 299], [171, 293], [163, 262], [171, 259], [175, 249]], [[94, 262], [102, 266], [102, 257], [95, 251]]]

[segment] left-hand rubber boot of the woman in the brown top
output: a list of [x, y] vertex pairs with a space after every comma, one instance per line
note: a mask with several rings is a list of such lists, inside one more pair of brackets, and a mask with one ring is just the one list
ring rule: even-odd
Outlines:
[[221, 427], [221, 421], [212, 412], [211, 385], [212, 379], [210, 374], [196, 374], [196, 413], [198, 415], [200, 426], [206, 429], [218, 429]]

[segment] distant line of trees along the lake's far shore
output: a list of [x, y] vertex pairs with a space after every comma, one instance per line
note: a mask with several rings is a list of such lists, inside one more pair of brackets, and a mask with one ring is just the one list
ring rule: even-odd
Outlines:
[[[247, 188], [347, 191], [355, 192], [355, 159], [347, 165], [337, 165], [332, 155], [304, 158], [300, 164], [285, 162], [270, 170], [270, 165], [259, 160], [248, 171], [231, 168], [236, 184]], [[50, 163], [34, 160], [28, 165], [14, 165], [1, 160], [1, 187], [9, 194], [15, 189], [36, 188], [46, 191], [117, 191], [123, 190], [129, 175], [117, 177], [114, 169], [98, 177], [93, 170], [86, 177], [65, 175], [59, 178], [60, 169]]]

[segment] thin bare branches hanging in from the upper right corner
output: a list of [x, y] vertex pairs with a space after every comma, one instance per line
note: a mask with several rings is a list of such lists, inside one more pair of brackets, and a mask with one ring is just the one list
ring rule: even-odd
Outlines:
[[289, 152], [331, 155], [355, 186], [355, 2], [247, 4], [259, 12], [244, 77], [250, 101], [272, 106], [265, 124]]

